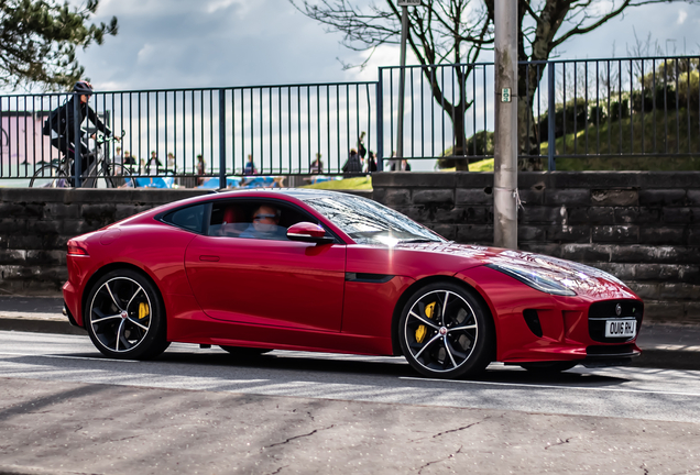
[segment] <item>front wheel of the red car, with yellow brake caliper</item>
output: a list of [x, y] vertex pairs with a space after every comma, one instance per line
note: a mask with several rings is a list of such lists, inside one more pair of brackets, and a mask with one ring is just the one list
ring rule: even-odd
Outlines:
[[495, 331], [491, 312], [471, 291], [436, 283], [418, 289], [404, 306], [398, 341], [422, 375], [461, 378], [478, 375], [491, 363]]

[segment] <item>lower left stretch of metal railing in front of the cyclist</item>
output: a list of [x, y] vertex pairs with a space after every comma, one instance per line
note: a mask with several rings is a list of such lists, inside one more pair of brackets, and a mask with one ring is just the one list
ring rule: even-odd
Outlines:
[[[0, 178], [28, 179], [62, 158], [42, 129], [72, 97], [0, 97]], [[215, 176], [340, 174], [362, 132], [364, 146], [376, 141], [375, 98], [375, 82], [339, 82], [95, 92], [88, 104], [113, 132], [123, 131], [109, 155], [123, 162], [129, 153], [134, 177], [194, 185]], [[88, 139], [94, 132], [90, 124], [81, 136], [88, 152], [96, 148]], [[79, 133], [72, 135], [77, 143]], [[249, 157], [254, 170], [247, 170]]]

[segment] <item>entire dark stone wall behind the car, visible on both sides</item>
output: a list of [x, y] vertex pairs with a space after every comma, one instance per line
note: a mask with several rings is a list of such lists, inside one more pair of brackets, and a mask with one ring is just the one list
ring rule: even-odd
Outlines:
[[[519, 248], [625, 280], [646, 317], [700, 323], [700, 173], [522, 173]], [[493, 175], [379, 173], [373, 198], [462, 242], [493, 243]], [[58, 295], [65, 244], [201, 190], [0, 188], [0, 292]]]

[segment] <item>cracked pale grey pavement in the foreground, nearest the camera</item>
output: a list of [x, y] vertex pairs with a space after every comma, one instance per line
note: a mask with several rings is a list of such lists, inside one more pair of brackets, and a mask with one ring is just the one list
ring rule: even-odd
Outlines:
[[694, 474], [699, 438], [690, 422], [0, 378], [2, 475]]

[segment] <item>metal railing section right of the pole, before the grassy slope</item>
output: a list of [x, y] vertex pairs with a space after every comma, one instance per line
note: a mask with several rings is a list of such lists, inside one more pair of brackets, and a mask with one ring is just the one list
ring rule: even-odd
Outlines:
[[550, 62], [548, 159], [700, 155], [700, 57]]

